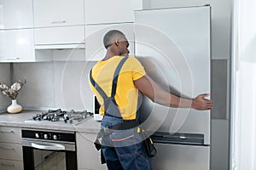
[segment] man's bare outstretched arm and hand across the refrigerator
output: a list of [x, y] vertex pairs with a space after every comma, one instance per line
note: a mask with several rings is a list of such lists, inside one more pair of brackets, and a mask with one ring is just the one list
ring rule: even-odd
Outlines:
[[169, 94], [162, 90], [150, 77], [147, 75], [134, 81], [135, 86], [149, 99], [160, 105], [169, 107], [193, 108], [203, 111], [212, 109], [212, 100], [204, 99], [209, 94], [201, 94], [195, 99], [183, 99], [176, 95]]

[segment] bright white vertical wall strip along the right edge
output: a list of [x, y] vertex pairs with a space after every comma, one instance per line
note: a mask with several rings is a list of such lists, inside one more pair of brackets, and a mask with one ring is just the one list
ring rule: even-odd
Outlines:
[[256, 169], [256, 2], [235, 0], [232, 63], [232, 167]]

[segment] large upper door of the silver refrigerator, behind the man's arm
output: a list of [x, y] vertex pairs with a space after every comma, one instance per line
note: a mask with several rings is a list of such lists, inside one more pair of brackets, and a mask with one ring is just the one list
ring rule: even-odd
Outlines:
[[[210, 94], [210, 9], [135, 11], [136, 57], [172, 94], [190, 99]], [[202, 134], [204, 144], [210, 144], [210, 111], [169, 108], [144, 97], [140, 112], [149, 131]]]

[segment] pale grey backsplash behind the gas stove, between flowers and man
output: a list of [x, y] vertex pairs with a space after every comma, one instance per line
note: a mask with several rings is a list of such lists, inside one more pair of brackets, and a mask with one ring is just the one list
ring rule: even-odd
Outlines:
[[26, 79], [18, 102], [27, 108], [92, 111], [88, 73], [95, 62], [15, 63], [13, 79]]

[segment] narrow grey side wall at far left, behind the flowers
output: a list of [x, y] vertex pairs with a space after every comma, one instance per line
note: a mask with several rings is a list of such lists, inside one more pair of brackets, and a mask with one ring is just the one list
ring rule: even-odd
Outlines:
[[[0, 82], [10, 86], [10, 65], [0, 64]], [[1, 92], [0, 92], [1, 93]], [[0, 111], [6, 110], [7, 106], [11, 104], [9, 97], [0, 94]]]

